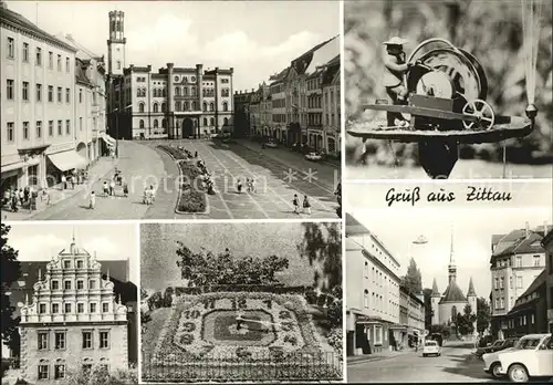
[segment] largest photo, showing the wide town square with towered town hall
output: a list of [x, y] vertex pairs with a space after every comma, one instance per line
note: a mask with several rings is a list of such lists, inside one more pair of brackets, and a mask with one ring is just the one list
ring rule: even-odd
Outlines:
[[2, 1], [2, 219], [336, 219], [340, 14]]

